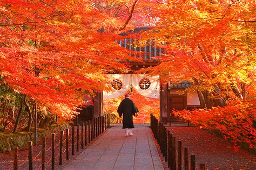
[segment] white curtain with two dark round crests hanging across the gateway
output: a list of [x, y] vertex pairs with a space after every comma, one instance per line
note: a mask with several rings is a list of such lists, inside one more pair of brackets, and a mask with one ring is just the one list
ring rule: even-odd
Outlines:
[[113, 84], [113, 91], [103, 91], [103, 98], [122, 96], [131, 86], [145, 97], [159, 98], [158, 79], [159, 76], [147, 76], [146, 74], [110, 74], [110, 84]]

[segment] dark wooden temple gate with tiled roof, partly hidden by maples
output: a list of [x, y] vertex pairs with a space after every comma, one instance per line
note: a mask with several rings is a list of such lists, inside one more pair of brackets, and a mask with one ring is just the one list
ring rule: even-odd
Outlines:
[[[129, 34], [139, 33], [149, 30], [150, 27], [140, 27], [134, 29], [132, 32], [123, 33], [122, 36], [129, 37]], [[166, 54], [164, 48], [157, 47], [154, 40], [147, 40], [144, 45], [136, 45], [136, 38], [123, 38], [122, 40], [116, 40], [116, 42], [127, 48], [130, 52], [130, 56], [136, 58], [142, 58], [143, 62], [130, 62], [131, 73], [136, 70], [154, 67], [159, 65], [160, 61], [156, 56]], [[188, 81], [183, 81], [178, 84], [165, 83], [160, 84], [160, 121], [167, 123], [170, 121], [177, 121], [177, 119], [171, 114], [172, 109], [183, 110], [199, 108], [199, 98], [196, 92], [185, 93], [185, 89], [192, 86]], [[95, 118], [103, 115], [103, 93], [96, 93], [95, 98], [91, 98], [92, 105], [83, 108], [79, 115], [79, 120], [86, 121], [91, 118]]]

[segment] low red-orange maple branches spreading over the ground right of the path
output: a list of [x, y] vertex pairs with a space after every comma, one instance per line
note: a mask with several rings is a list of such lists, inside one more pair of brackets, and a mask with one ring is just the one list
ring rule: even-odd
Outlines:
[[219, 130], [235, 146], [246, 143], [256, 147], [256, 100], [232, 101], [224, 108], [173, 111], [174, 115], [188, 119], [203, 129]]

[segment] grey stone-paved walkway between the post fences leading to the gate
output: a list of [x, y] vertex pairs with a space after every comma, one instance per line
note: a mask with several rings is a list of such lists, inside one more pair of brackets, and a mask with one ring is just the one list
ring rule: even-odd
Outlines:
[[135, 124], [125, 137], [122, 125], [111, 125], [64, 169], [164, 169], [149, 124]]

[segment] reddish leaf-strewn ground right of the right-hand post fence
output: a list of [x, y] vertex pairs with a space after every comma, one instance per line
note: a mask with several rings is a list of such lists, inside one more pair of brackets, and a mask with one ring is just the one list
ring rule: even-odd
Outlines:
[[[209, 169], [256, 169], [256, 157], [244, 150], [234, 151], [233, 144], [225, 139], [215, 137], [204, 130], [195, 127], [169, 126], [173, 137], [182, 141], [182, 146], [188, 147], [189, 154], [196, 154], [197, 169], [199, 164], [205, 164]], [[157, 144], [156, 144], [157, 145]], [[184, 151], [182, 151], [184, 154]], [[167, 164], [159, 151], [164, 168]], [[190, 156], [189, 156], [190, 157]], [[184, 162], [182, 163], [184, 165]]]

